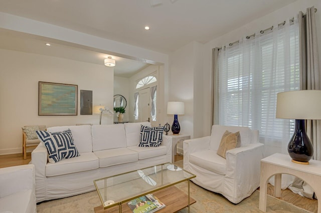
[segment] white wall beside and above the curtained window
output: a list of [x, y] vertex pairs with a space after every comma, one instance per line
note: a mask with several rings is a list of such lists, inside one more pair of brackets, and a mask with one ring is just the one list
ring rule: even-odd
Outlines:
[[[318, 46], [319, 46], [319, 64], [321, 65], [321, 1], [320, 0], [298, 0], [285, 7], [279, 8], [261, 18], [255, 19], [250, 23], [247, 23], [237, 29], [231, 29], [230, 32], [215, 38], [204, 45], [204, 136], [210, 135], [211, 133], [211, 117], [210, 114], [210, 100], [211, 100], [211, 72], [212, 72], [212, 49], [215, 47], [224, 46], [230, 42], [238, 40], [244, 35], [250, 35], [254, 32], [258, 32], [261, 29], [268, 28], [269, 26], [280, 23], [285, 19], [296, 16], [301, 10], [303, 13], [306, 12], [307, 7], [314, 5], [318, 11], [316, 15], [317, 35], [318, 35]], [[320, 66], [321, 67], [321, 66]]]

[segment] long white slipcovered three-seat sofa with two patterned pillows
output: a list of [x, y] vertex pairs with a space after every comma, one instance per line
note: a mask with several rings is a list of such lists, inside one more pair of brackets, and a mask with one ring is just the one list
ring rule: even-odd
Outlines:
[[32, 152], [36, 168], [37, 202], [95, 190], [93, 180], [172, 161], [172, 139], [163, 135], [158, 147], [137, 146], [140, 125], [149, 122], [109, 125], [74, 125], [47, 128], [70, 129], [80, 156], [48, 162], [41, 142]]

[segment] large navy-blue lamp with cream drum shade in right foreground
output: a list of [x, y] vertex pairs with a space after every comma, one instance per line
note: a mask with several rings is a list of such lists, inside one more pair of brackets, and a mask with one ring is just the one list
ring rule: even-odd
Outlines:
[[321, 119], [321, 90], [297, 90], [277, 93], [276, 118], [295, 119], [295, 129], [287, 151], [292, 162], [309, 164], [313, 145], [305, 130], [305, 119]]

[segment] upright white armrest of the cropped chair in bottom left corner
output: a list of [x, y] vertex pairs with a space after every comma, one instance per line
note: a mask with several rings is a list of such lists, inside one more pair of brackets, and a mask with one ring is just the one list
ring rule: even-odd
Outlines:
[[35, 193], [35, 166], [33, 164], [0, 168], [0, 198], [32, 189]]

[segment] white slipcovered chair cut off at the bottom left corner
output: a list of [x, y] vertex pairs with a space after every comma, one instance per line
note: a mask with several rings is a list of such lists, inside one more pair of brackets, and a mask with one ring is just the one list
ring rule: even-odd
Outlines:
[[0, 212], [37, 212], [33, 164], [0, 168]]

